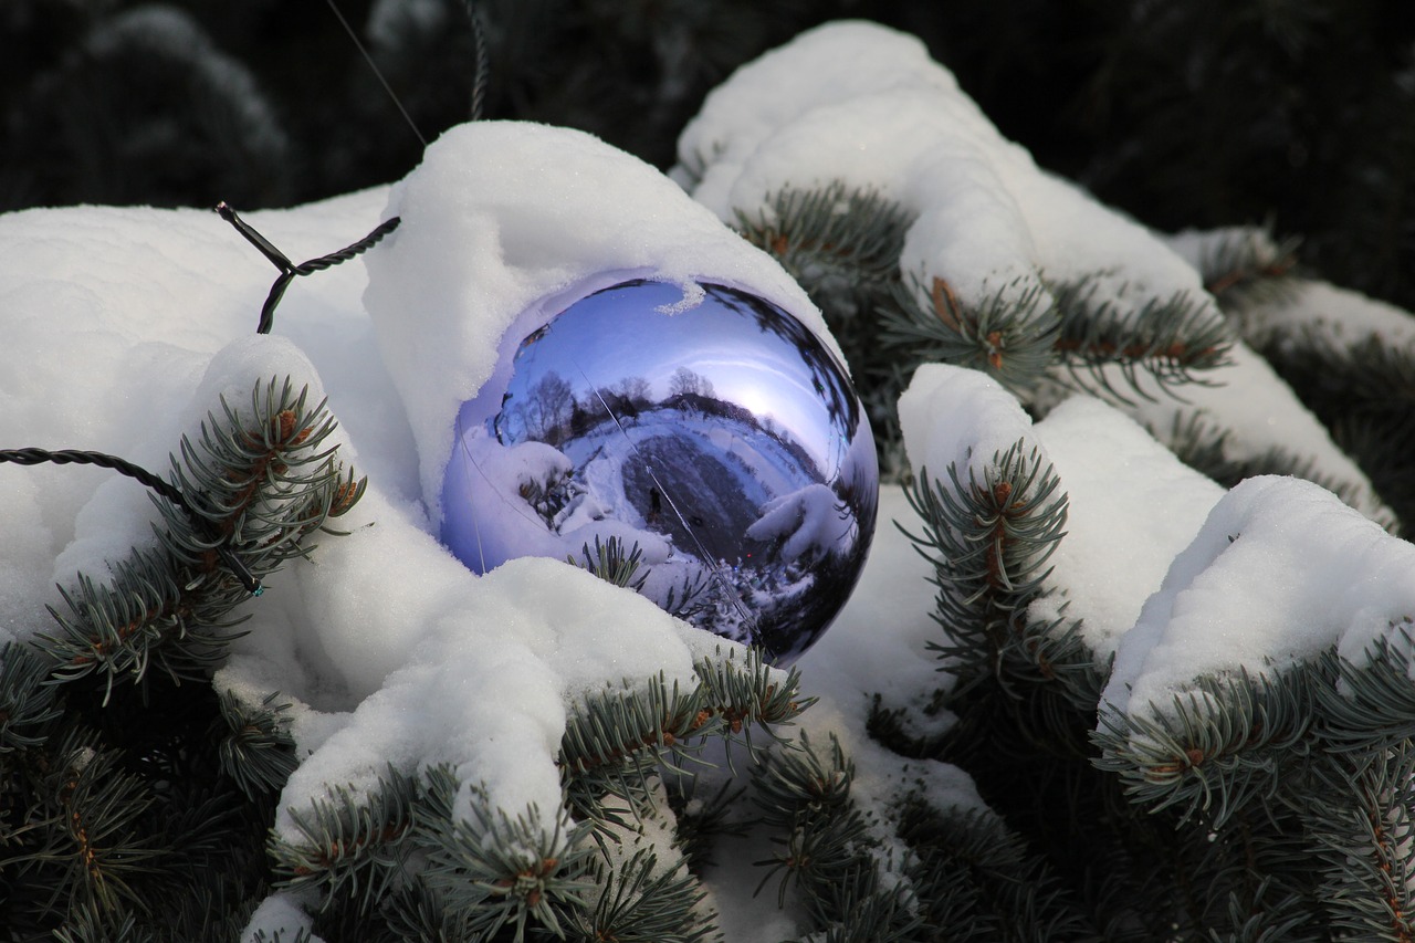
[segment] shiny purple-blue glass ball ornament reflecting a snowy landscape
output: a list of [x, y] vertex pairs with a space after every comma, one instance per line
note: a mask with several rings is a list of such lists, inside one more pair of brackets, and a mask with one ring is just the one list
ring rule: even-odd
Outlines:
[[791, 661], [865, 565], [869, 421], [801, 321], [732, 287], [689, 289], [624, 282], [502, 351], [509, 368], [457, 418], [441, 539], [487, 572], [618, 538], [642, 551], [641, 593]]

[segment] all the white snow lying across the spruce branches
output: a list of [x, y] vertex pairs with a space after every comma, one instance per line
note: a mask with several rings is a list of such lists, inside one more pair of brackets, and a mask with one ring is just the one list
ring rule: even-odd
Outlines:
[[[945, 278], [965, 299], [1095, 270], [1111, 273], [1102, 292], [1129, 286], [1126, 304], [1201, 296], [1170, 246], [1039, 170], [921, 44], [882, 27], [828, 25], [739, 71], [685, 132], [682, 161], [676, 177], [698, 201], [586, 135], [481, 123], [450, 130], [393, 187], [252, 212], [291, 258], [402, 217], [366, 255], [296, 279], [269, 337], [252, 331], [275, 273], [209, 211], [0, 215], [4, 447], [96, 449], [160, 470], [221, 396], [239, 406], [255, 382], [289, 377], [328, 398], [341, 459], [369, 479], [338, 521], [348, 534], [321, 538], [245, 606], [249, 634], [215, 678], [245, 702], [279, 692], [291, 704], [301, 763], [279, 833], [291, 834], [291, 808], [331, 787], [357, 793], [388, 763], [440, 762], [468, 784], [460, 808], [478, 784], [512, 816], [533, 804], [549, 831], [555, 756], [576, 702], [661, 673], [692, 684], [695, 658], [736, 650], [563, 562], [512, 559], [478, 576], [433, 537], [458, 411], [508, 370], [504, 337], [654, 275], [749, 289], [838, 353], [804, 292], [722, 224], [775, 188], [832, 178], [911, 208], [906, 272]], [[1317, 286], [1303, 297], [1312, 310], [1350, 302]], [[1371, 330], [1405, 330], [1370, 312]], [[1197, 411], [1237, 430], [1235, 447], [1300, 443], [1323, 469], [1364, 481], [1261, 358], [1240, 345], [1232, 361], [1214, 372], [1225, 385], [1186, 388], [1189, 404], [1058, 395], [1033, 419], [983, 374], [942, 365], [921, 368], [900, 401], [916, 471], [947, 484], [952, 466], [981, 480], [1017, 442], [1054, 467], [1067, 535], [1029, 617], [1078, 619], [1098, 658], [1115, 654], [1105, 709], [1163, 709], [1200, 674], [1281, 670], [1332, 646], [1360, 658], [1415, 613], [1409, 544], [1306, 483], [1257, 479], [1224, 494], [1140, 425], [1163, 435]], [[497, 473], [549, 474], [556, 456], [512, 450]], [[770, 471], [764, 450], [746, 457]], [[832, 507], [833, 496], [805, 488], [768, 503], [754, 527], [785, 538], [790, 555], [809, 554], [829, 539]], [[1374, 497], [1363, 510], [1381, 513]], [[150, 545], [157, 520], [144, 488], [112, 473], [10, 464], [0, 464], [0, 641], [47, 630], [52, 583]], [[952, 722], [928, 711], [942, 682], [927, 650], [940, 633], [932, 568], [896, 522], [920, 531], [890, 484], [855, 596], [798, 663], [804, 692], [819, 697], [798, 726], [818, 746], [841, 739], [886, 851], [889, 810], [906, 796], [982, 807], [962, 770], [901, 758], [866, 732], [876, 695], [916, 732]], [[751, 899], [757, 879], [740, 861], [706, 878], [730, 943], [801, 932], [771, 895]], [[248, 937], [279, 926], [308, 926], [297, 901], [269, 898]]]

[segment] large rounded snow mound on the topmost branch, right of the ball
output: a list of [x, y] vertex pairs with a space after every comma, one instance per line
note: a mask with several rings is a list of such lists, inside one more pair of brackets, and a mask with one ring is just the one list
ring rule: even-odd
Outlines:
[[678, 142], [674, 176], [732, 222], [784, 188], [833, 181], [916, 219], [900, 272], [944, 279], [965, 304], [1087, 279], [1097, 304], [1138, 312], [1189, 295], [1220, 317], [1199, 275], [1159, 238], [1040, 170], [916, 37], [829, 23], [739, 68]]

